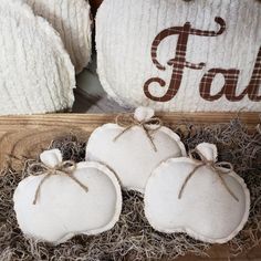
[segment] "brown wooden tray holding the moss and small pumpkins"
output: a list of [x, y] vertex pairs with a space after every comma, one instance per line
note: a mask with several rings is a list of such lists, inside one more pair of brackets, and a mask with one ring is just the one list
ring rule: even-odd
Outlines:
[[[48, 114], [32, 116], [2, 116], [0, 117], [0, 169], [11, 166], [21, 170], [22, 161], [10, 158], [13, 155], [18, 158], [35, 158], [45, 149], [55, 137], [76, 134], [81, 139], [87, 140], [94, 128], [102, 124], [114, 122], [115, 114]], [[166, 125], [180, 123], [192, 124], [217, 124], [228, 123], [236, 118], [234, 113], [169, 113], [159, 114]], [[258, 113], [241, 113], [239, 117], [250, 128], [260, 122]], [[223, 260], [261, 260], [261, 247], [255, 248], [251, 253], [233, 259], [230, 257], [226, 246], [216, 246], [209, 251], [210, 258], [184, 257], [178, 261], [223, 261]]]

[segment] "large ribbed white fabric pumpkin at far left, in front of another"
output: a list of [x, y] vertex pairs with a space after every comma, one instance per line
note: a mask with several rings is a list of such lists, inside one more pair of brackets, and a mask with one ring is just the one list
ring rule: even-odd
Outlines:
[[53, 28], [21, 1], [0, 4], [0, 114], [71, 108], [74, 67]]

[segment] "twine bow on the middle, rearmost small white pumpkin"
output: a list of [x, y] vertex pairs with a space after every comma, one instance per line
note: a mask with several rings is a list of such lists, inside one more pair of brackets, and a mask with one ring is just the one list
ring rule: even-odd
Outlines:
[[146, 137], [150, 142], [154, 152], [157, 152], [152, 135], [163, 126], [163, 122], [160, 118], [152, 117], [149, 119], [144, 119], [142, 122], [138, 122], [133, 115], [121, 114], [116, 117], [116, 124], [119, 125], [121, 127], [124, 127], [124, 129], [114, 138], [114, 142], [116, 142], [123, 134], [128, 132], [132, 127], [139, 126], [140, 128], [143, 128]]

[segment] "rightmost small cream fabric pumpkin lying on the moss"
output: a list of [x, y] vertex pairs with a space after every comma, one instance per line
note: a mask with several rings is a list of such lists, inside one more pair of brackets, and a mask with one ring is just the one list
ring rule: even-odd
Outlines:
[[[200, 144], [197, 149], [208, 161], [216, 163], [215, 145]], [[248, 220], [249, 190], [234, 171], [218, 167], [223, 173], [221, 179], [209, 166], [197, 168], [200, 164], [181, 157], [158, 166], [146, 186], [145, 215], [158, 231], [185, 232], [205, 242], [225, 243]]]

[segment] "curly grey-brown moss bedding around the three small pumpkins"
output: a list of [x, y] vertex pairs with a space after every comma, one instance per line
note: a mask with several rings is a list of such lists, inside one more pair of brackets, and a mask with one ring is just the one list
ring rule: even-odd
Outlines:
[[[182, 129], [182, 130], [181, 130]], [[239, 121], [226, 125], [196, 127], [182, 125], [180, 133], [187, 148], [201, 142], [216, 143], [219, 160], [231, 161], [251, 190], [251, 212], [246, 228], [229, 242], [233, 255], [261, 243], [261, 134], [249, 134]], [[185, 134], [185, 135], [184, 135]], [[85, 143], [75, 136], [54, 140], [50, 148], [60, 148], [65, 159], [84, 160]], [[80, 236], [59, 247], [24, 239], [13, 212], [12, 195], [27, 176], [27, 161], [21, 174], [6, 170], [0, 178], [0, 260], [146, 260], [175, 259], [187, 253], [206, 254], [211, 247], [186, 234], [163, 234], [148, 225], [138, 192], [123, 192], [124, 206], [119, 222], [108, 232], [95, 237]]]

